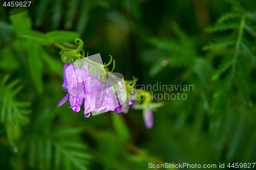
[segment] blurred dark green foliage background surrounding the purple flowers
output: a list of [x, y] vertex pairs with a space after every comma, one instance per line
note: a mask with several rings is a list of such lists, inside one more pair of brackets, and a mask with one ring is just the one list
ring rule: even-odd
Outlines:
[[[1, 169], [256, 161], [255, 1], [44, 0], [11, 17], [0, 8]], [[103, 62], [111, 54], [126, 80], [194, 91], [165, 100], [151, 130], [133, 109], [85, 118], [57, 107], [65, 54], [51, 42], [72, 48], [75, 38]]]

